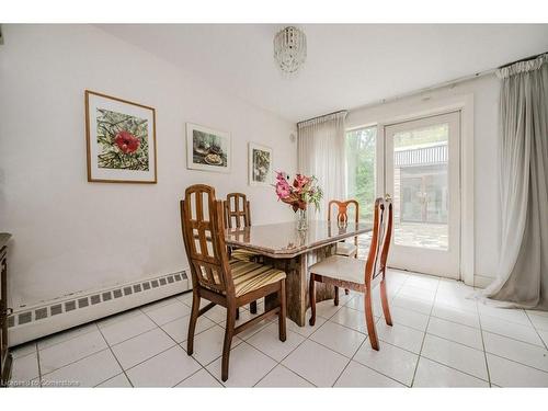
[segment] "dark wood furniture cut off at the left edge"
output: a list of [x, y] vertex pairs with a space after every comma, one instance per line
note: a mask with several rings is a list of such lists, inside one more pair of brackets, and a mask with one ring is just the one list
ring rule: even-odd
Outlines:
[[11, 374], [11, 354], [8, 350], [8, 241], [11, 235], [0, 232], [0, 386], [8, 385]]

